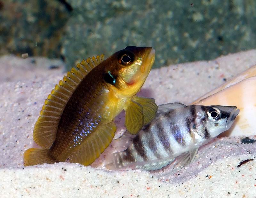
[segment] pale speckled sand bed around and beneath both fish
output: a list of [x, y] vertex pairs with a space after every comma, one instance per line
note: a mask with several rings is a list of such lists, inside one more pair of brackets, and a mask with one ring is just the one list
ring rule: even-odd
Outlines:
[[[150, 72], [139, 95], [157, 104], [189, 104], [254, 64], [256, 50], [162, 67]], [[59, 67], [49, 70], [51, 65]], [[200, 148], [188, 167], [177, 172], [167, 167], [161, 177], [159, 172], [107, 171], [104, 157], [115, 150], [112, 145], [92, 166], [24, 167], [23, 152], [36, 146], [33, 127], [44, 99], [63, 77], [63, 63], [4, 56], [0, 69], [11, 71], [0, 77], [0, 197], [256, 197], [256, 162], [251, 160], [256, 143], [241, 143], [244, 136], [216, 138]], [[123, 114], [116, 123], [118, 137], [124, 131]]]

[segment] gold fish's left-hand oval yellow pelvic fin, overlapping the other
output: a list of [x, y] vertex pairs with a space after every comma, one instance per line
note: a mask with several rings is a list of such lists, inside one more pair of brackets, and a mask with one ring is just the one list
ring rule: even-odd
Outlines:
[[130, 134], [136, 135], [144, 125], [143, 107], [131, 100], [124, 110], [125, 127]]

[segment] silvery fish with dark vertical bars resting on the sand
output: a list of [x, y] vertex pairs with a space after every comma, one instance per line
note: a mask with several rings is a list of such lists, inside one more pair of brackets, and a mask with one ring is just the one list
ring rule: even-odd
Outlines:
[[125, 133], [116, 140], [127, 149], [109, 156], [106, 167], [157, 170], [182, 154], [179, 166], [187, 165], [200, 146], [231, 127], [238, 113], [236, 106], [160, 105], [156, 118], [136, 136]]

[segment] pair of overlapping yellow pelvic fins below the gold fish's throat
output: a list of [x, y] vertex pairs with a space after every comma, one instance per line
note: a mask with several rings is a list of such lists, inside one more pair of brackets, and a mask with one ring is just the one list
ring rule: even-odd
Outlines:
[[155, 99], [135, 96], [125, 109], [125, 126], [132, 135], [156, 117]]

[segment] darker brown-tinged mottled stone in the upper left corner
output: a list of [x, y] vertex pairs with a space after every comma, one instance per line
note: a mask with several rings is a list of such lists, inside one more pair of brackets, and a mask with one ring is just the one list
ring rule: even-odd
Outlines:
[[68, 16], [57, 0], [0, 0], [0, 55], [60, 57]]

